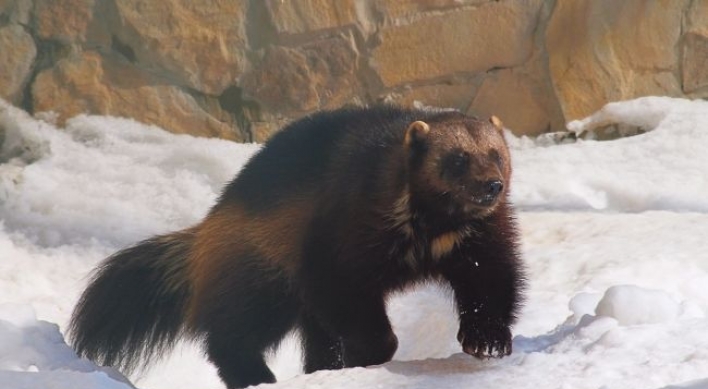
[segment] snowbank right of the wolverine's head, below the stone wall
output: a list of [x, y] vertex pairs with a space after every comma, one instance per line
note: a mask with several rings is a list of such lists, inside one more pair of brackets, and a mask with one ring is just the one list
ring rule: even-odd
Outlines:
[[626, 123], [650, 133], [552, 147], [514, 144], [514, 201], [524, 209], [708, 211], [708, 102], [645, 97], [572, 122], [576, 132]]

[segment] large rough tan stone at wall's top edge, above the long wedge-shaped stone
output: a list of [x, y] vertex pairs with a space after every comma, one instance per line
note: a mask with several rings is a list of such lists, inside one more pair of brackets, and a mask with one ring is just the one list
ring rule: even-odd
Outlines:
[[115, 0], [113, 34], [135, 60], [167, 78], [218, 95], [246, 64], [244, 0]]

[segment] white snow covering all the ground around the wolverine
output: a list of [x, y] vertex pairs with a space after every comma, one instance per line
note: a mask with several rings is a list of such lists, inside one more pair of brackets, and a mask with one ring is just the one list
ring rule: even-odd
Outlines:
[[[268, 387], [708, 388], [708, 103], [614, 103], [569, 128], [608, 123], [648, 132], [510, 139], [530, 281], [510, 357], [460, 353], [449, 298], [428, 287], [390, 301], [394, 361], [302, 375], [291, 338]], [[57, 130], [2, 102], [0, 128], [0, 387], [131, 388], [62, 338], [87, 274], [120, 247], [199, 220], [258, 147], [109, 117]], [[193, 344], [130, 379], [222, 387]]]

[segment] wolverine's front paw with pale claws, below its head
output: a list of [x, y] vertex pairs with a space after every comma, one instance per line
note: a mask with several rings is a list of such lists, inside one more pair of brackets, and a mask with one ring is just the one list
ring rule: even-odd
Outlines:
[[511, 330], [501, 323], [463, 323], [457, 340], [465, 353], [480, 359], [511, 354]]

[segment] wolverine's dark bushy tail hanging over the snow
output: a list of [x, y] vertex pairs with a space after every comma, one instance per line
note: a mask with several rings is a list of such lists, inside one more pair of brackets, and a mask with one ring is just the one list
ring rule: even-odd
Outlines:
[[169, 351], [184, 331], [193, 240], [184, 230], [107, 258], [74, 308], [69, 332], [76, 352], [129, 374]]

